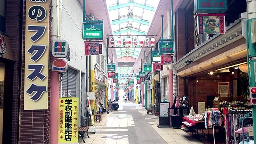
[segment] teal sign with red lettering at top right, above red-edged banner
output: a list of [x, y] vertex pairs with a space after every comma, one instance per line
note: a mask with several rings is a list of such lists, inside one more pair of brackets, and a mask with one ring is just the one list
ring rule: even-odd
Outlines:
[[227, 0], [194, 0], [196, 13], [225, 13]]

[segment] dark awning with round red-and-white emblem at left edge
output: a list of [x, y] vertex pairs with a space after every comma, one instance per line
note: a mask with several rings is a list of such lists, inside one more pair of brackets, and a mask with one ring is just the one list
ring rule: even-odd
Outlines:
[[14, 61], [9, 36], [0, 32], [0, 57]]

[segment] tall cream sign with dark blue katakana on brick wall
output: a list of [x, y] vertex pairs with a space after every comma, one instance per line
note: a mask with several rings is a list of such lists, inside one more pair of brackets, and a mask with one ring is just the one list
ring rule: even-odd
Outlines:
[[24, 110], [48, 109], [49, 0], [26, 0]]

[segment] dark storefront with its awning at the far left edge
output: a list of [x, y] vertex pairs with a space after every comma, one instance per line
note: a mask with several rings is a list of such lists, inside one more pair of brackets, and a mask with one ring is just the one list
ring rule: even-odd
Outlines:
[[11, 135], [14, 63], [9, 37], [0, 32], [0, 144]]

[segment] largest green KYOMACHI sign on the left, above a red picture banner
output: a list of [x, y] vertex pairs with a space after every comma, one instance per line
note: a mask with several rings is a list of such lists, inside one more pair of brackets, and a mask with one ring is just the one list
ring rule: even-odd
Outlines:
[[103, 23], [83, 23], [83, 39], [103, 39]]

